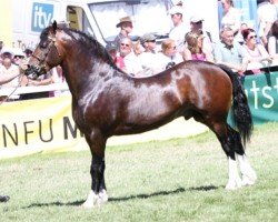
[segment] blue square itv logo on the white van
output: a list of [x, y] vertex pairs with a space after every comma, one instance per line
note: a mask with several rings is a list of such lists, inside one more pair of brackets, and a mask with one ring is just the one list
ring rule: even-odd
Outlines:
[[53, 4], [33, 2], [31, 30], [41, 32], [53, 18]]

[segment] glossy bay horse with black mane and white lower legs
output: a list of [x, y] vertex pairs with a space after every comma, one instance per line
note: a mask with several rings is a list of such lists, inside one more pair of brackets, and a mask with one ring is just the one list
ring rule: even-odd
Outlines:
[[[216, 134], [228, 158], [226, 189], [255, 183], [257, 176], [244, 149], [252, 132], [251, 113], [237, 74], [228, 68], [186, 61], [152, 77], [133, 78], [115, 65], [96, 39], [53, 22], [41, 32], [26, 75], [34, 79], [58, 64], [72, 95], [73, 120], [92, 154], [91, 190], [83, 206], [108, 201], [108, 138], [141, 133], [179, 117], [193, 118]], [[227, 123], [230, 109], [235, 129]]]

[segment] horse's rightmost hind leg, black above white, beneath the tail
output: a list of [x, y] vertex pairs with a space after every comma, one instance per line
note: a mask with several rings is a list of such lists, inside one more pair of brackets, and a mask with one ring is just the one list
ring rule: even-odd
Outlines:
[[239, 132], [237, 132], [230, 127], [229, 130], [231, 131], [235, 141], [235, 151], [237, 153], [239, 169], [242, 174], [242, 185], [252, 185], [257, 180], [257, 175], [247, 160]]

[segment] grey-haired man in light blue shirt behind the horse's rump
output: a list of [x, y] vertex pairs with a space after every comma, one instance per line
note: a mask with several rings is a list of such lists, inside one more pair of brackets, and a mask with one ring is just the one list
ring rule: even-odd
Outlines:
[[216, 43], [215, 61], [216, 63], [225, 64], [244, 75], [248, 65], [247, 56], [237, 41], [234, 41], [234, 31], [230, 27], [225, 27], [220, 31], [221, 40]]

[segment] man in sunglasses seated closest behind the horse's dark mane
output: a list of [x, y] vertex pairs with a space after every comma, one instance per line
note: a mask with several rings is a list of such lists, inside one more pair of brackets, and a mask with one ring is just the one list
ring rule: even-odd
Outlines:
[[116, 58], [116, 64], [120, 61], [120, 69], [130, 75], [138, 75], [142, 72], [140, 60], [133, 52], [133, 44], [129, 38], [123, 38], [120, 41], [120, 56]]

